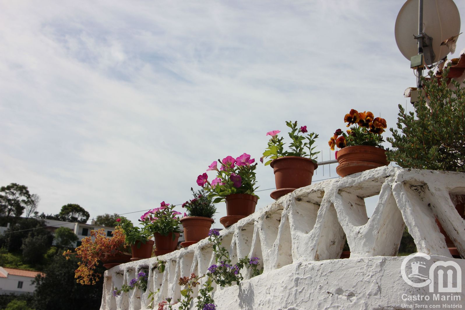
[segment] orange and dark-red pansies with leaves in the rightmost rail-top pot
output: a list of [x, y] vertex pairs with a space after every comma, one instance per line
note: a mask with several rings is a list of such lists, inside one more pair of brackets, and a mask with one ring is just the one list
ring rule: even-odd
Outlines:
[[346, 132], [341, 129], [334, 132], [328, 141], [332, 151], [334, 151], [335, 146], [342, 149], [353, 145], [370, 145], [384, 149], [381, 145], [384, 142], [381, 134], [385, 132], [387, 127], [385, 119], [375, 118], [372, 112], [358, 112], [351, 109], [348, 114], [345, 114], [344, 122], [348, 123], [346, 127], [355, 126], [352, 126]]

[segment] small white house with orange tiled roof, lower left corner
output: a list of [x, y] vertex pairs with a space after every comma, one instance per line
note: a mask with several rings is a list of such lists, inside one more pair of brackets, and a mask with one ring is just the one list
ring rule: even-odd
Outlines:
[[32, 281], [38, 274], [44, 275], [38, 271], [0, 267], [0, 294], [32, 294], [35, 290]]

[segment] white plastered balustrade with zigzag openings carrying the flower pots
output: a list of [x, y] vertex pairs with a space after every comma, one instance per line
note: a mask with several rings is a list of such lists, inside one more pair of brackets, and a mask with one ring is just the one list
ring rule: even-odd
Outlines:
[[[419, 252], [451, 257], [435, 218], [465, 257], [465, 221], [451, 194], [465, 194], [465, 173], [386, 166], [300, 188], [222, 230], [221, 236], [233, 263], [246, 255], [261, 258], [264, 272], [259, 277], [288, 264], [339, 259], [346, 238], [351, 258], [396, 256], [405, 225]], [[364, 199], [376, 195], [368, 218]], [[157, 259], [166, 262], [163, 273], [157, 270]], [[166, 297], [181, 297], [179, 277], [206, 274], [213, 263], [212, 245], [204, 239], [160, 257], [116, 266], [105, 272], [100, 309], [149, 308], [149, 291], [159, 289], [156, 309]], [[128, 284], [141, 270], [149, 272], [146, 292], [113, 296], [114, 287]], [[245, 269], [242, 274], [244, 281], [250, 277]]]

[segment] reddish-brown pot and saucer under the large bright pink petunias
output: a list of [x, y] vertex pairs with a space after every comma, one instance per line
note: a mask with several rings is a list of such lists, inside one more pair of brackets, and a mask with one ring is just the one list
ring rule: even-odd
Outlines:
[[219, 222], [225, 227], [237, 223], [241, 218], [245, 218], [255, 212], [257, 201], [257, 196], [249, 194], [231, 194], [226, 196], [227, 216], [220, 218]]

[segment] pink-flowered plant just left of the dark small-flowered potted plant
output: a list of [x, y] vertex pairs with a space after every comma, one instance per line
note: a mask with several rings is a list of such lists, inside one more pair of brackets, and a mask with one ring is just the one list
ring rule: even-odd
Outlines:
[[144, 224], [144, 229], [150, 234], [158, 232], [162, 236], [168, 236], [173, 232], [181, 232], [179, 229], [179, 218], [177, 215], [181, 212], [174, 211], [175, 205], [166, 204], [164, 201], [159, 208], [149, 210], [140, 217], [140, 222]]

